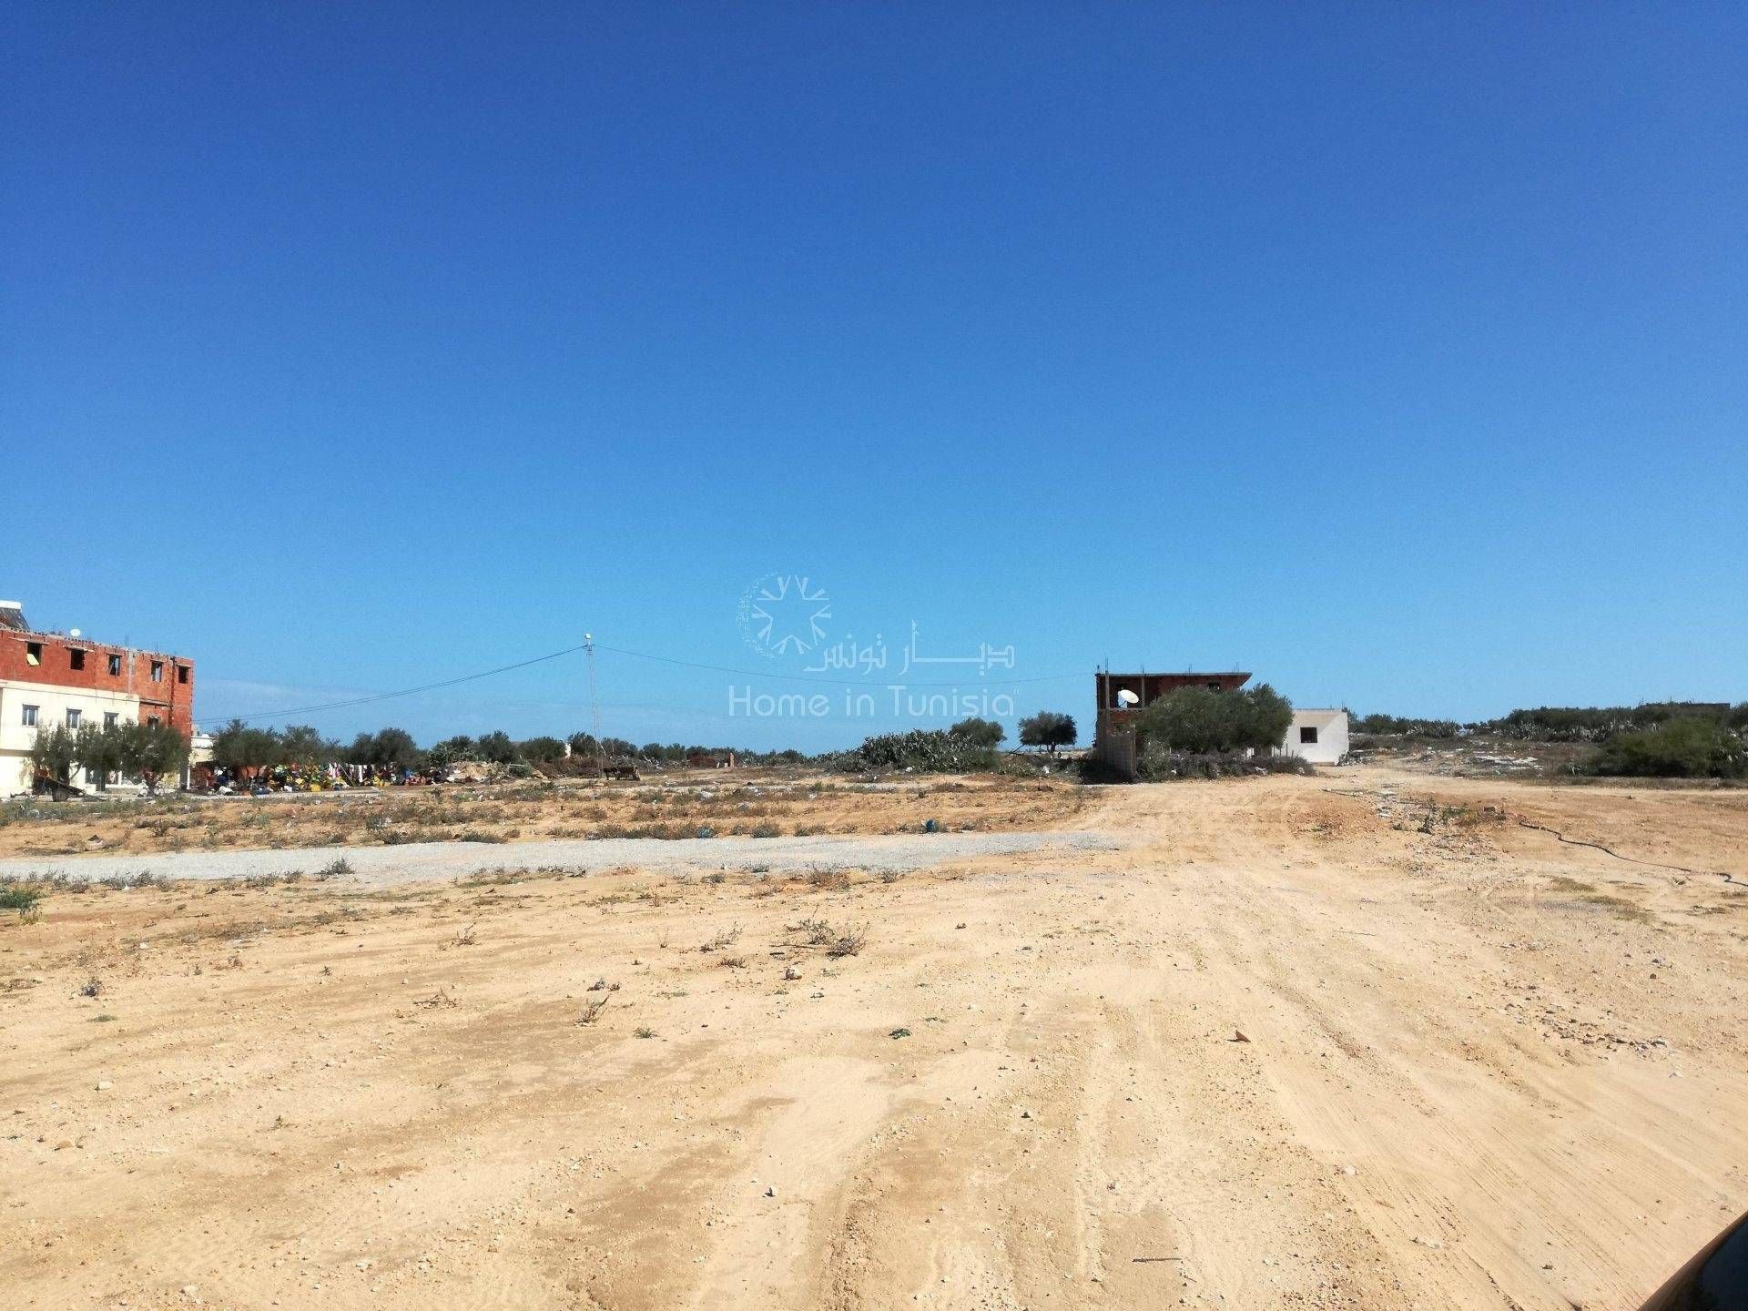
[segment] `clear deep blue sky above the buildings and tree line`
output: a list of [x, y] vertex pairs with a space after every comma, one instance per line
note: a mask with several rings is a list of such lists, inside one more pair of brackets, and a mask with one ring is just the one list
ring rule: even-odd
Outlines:
[[[203, 720], [584, 631], [794, 675], [736, 622], [773, 573], [1082, 722], [1105, 659], [1748, 697], [1741, 5], [12, 3], [0, 44], [0, 594], [191, 656]], [[888, 727], [600, 683], [638, 741]], [[587, 713], [565, 657], [297, 718]]]

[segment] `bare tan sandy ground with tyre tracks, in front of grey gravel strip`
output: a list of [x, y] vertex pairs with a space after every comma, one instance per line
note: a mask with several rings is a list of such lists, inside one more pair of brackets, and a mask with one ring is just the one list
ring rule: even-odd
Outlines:
[[0, 1301], [1570, 1311], [1748, 1204], [1748, 795], [1072, 827], [1120, 844], [56, 891], [0, 926]]

